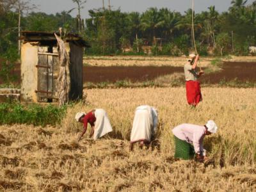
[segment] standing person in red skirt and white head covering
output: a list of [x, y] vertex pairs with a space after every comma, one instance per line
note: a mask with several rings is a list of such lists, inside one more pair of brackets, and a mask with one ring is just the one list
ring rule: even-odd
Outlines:
[[187, 100], [191, 106], [196, 106], [202, 100], [198, 77], [202, 76], [204, 71], [200, 70], [200, 72], [196, 72], [198, 60], [199, 55], [189, 54], [188, 63], [184, 65]]

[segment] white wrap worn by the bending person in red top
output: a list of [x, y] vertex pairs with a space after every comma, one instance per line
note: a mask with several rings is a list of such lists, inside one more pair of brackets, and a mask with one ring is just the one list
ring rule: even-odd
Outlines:
[[108, 115], [104, 109], [95, 109], [95, 127], [94, 127], [94, 134], [93, 140], [97, 140], [101, 138], [108, 132], [113, 131], [111, 124], [109, 122]]

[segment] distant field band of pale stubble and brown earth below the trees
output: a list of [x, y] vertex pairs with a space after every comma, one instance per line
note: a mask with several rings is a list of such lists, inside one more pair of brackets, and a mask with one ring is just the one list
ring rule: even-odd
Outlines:
[[[116, 87], [116, 83], [117, 86], [131, 87], [183, 86], [186, 59], [168, 56], [88, 56], [84, 58], [84, 87]], [[200, 78], [202, 85], [255, 87], [256, 57], [202, 57], [200, 67], [205, 70], [205, 76]], [[19, 64], [12, 74], [17, 76], [15, 86], [19, 86]]]

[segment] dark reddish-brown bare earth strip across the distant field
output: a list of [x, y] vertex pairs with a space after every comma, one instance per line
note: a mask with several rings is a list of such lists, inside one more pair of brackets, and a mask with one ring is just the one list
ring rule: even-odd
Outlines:
[[[183, 67], [83, 67], [83, 82], [100, 83], [129, 80], [131, 82], [143, 82], [156, 79], [156, 77], [173, 73], [183, 73]], [[221, 81], [233, 81], [241, 83], [256, 83], [256, 62], [225, 62], [218, 72], [205, 74], [200, 78], [202, 84], [218, 84]], [[12, 74], [17, 76], [20, 84], [20, 65], [16, 65]], [[184, 78], [182, 78], [184, 81]], [[2, 84], [0, 78], [0, 84]]]

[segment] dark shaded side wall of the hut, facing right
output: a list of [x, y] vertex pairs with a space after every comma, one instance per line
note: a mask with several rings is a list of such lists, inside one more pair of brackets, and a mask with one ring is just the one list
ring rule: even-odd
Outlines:
[[69, 44], [70, 100], [83, 98], [83, 47]]

